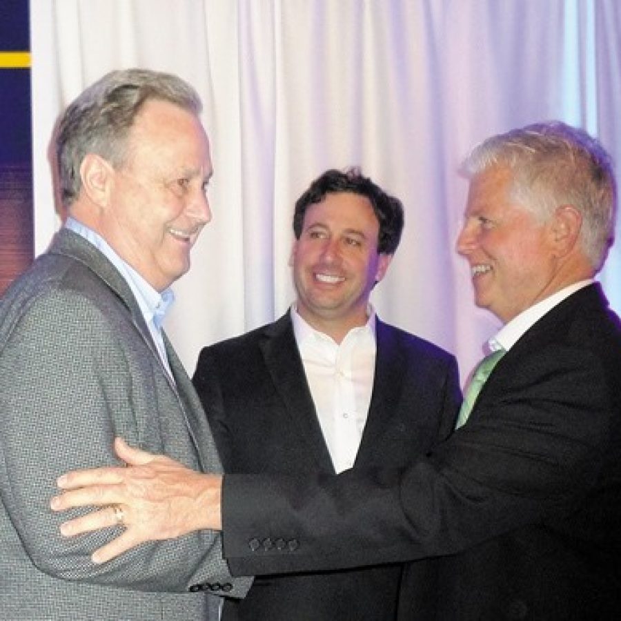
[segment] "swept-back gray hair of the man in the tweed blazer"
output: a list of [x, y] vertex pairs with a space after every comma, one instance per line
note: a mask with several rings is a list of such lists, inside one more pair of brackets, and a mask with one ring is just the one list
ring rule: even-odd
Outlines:
[[88, 153], [101, 155], [115, 168], [128, 156], [127, 139], [146, 101], [168, 101], [199, 115], [202, 104], [195, 89], [181, 78], [148, 69], [112, 71], [86, 88], [60, 117], [55, 131], [61, 199], [77, 199], [80, 166]]

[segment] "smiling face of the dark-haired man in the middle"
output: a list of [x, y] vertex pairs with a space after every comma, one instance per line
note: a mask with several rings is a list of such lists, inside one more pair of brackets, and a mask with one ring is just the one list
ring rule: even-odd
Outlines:
[[391, 262], [377, 253], [379, 230], [369, 200], [354, 193], [328, 193], [304, 215], [292, 253], [297, 311], [337, 342], [366, 323], [371, 289]]

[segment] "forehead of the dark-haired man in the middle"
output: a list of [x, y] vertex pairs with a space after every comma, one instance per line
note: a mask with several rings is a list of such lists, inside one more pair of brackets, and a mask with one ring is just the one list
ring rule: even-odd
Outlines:
[[380, 226], [371, 201], [352, 192], [331, 192], [319, 203], [309, 205], [304, 214], [304, 226], [313, 224], [341, 224], [357, 229]]

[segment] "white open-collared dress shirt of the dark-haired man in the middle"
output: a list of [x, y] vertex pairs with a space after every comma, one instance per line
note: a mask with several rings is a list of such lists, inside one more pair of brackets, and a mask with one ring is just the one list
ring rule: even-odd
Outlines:
[[319, 425], [337, 473], [351, 468], [362, 439], [375, 375], [375, 313], [340, 344], [291, 308], [295, 340]]

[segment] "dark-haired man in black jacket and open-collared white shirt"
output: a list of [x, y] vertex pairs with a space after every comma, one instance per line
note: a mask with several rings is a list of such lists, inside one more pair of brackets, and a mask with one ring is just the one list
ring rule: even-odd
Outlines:
[[[295, 304], [204, 348], [193, 377], [224, 469], [406, 466], [453, 431], [460, 391], [453, 356], [384, 324], [369, 304], [400, 240], [400, 201], [359, 170], [328, 170], [297, 200], [293, 226]], [[407, 584], [435, 592], [426, 570], [413, 563]], [[391, 621], [400, 584], [400, 564], [270, 575], [227, 600], [223, 620]]]

